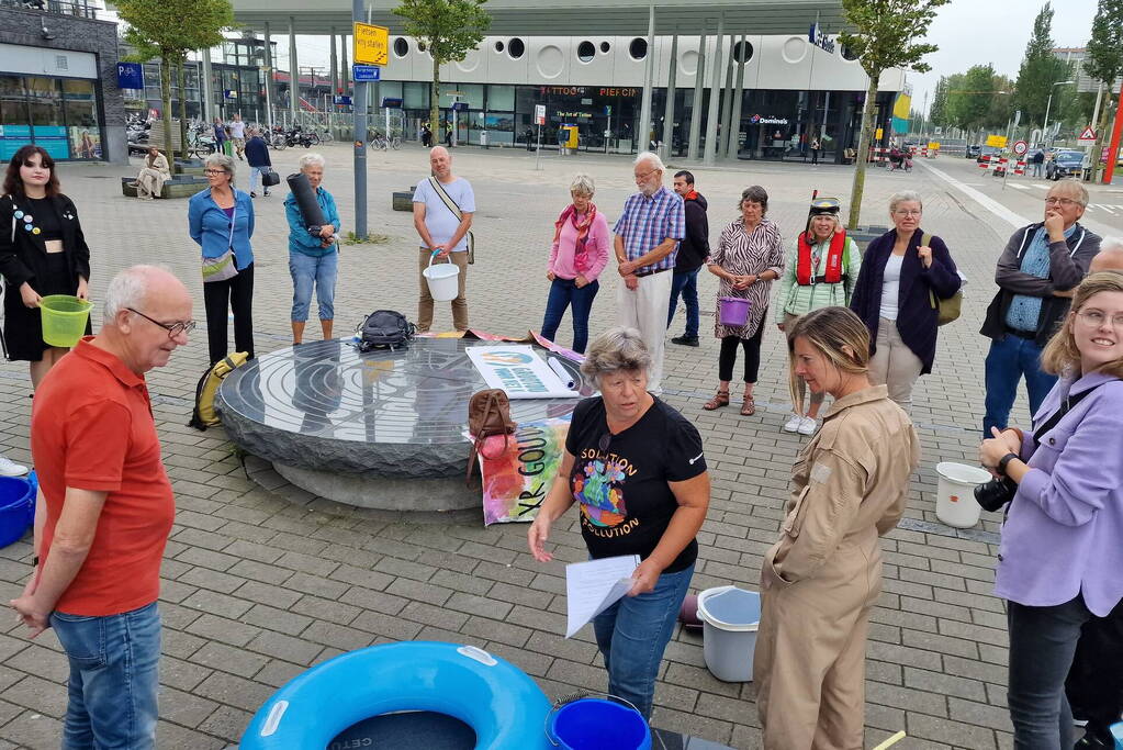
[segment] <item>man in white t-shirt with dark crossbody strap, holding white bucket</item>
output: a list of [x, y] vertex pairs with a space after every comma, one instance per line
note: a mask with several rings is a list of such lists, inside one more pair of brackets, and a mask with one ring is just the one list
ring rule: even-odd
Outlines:
[[[449, 129], [451, 137], [451, 129]], [[468, 230], [476, 212], [476, 196], [472, 184], [453, 174], [453, 156], [442, 146], [429, 152], [432, 176], [418, 183], [413, 191], [413, 228], [421, 238], [418, 265], [423, 272], [429, 262], [449, 262], [459, 267], [459, 287], [453, 300], [453, 327], [468, 330]], [[419, 273], [420, 300], [418, 302], [418, 331], [432, 326], [432, 295], [423, 274]]]

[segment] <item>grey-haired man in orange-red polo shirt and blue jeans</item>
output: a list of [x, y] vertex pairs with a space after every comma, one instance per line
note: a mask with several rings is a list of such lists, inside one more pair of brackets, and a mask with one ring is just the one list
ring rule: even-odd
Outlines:
[[159, 564], [175, 502], [144, 374], [194, 328], [171, 273], [134, 266], [106, 292], [104, 323], [36, 390], [36, 564], [11, 605], [70, 661], [62, 747], [155, 747]]

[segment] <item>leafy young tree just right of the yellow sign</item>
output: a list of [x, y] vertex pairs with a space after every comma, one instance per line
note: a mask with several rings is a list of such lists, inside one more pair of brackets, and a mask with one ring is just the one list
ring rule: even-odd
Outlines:
[[432, 89], [429, 94], [429, 128], [440, 140], [440, 66], [459, 62], [483, 42], [491, 16], [487, 0], [402, 0], [394, 15], [405, 19], [405, 33], [423, 42], [432, 56]]

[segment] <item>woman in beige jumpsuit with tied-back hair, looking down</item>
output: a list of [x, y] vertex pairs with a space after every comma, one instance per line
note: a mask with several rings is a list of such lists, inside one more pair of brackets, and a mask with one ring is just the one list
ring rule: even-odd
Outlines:
[[919, 441], [886, 387], [870, 385], [855, 313], [814, 310], [787, 333], [793, 399], [802, 409], [802, 378], [834, 403], [792, 469], [780, 539], [761, 564], [757, 707], [767, 750], [859, 750], [878, 538], [904, 513]]

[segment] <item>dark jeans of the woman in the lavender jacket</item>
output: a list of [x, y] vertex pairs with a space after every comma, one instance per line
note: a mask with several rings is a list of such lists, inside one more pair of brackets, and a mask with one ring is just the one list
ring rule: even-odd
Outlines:
[[1056, 606], [1006, 602], [1010, 687], [1006, 703], [1016, 750], [1068, 750], [1072, 711], [1065, 677], [1072, 665], [1080, 626], [1092, 618], [1084, 597]]

